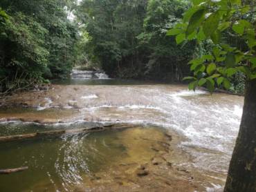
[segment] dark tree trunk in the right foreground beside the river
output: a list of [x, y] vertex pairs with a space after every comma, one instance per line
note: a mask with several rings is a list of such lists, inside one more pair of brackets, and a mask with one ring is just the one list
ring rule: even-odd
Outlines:
[[256, 191], [256, 79], [246, 84], [244, 113], [224, 191]]

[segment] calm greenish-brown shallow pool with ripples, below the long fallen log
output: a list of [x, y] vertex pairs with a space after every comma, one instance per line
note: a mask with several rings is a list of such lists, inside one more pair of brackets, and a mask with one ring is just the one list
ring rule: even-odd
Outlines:
[[0, 144], [1, 169], [29, 167], [0, 175], [0, 191], [71, 191], [113, 166], [149, 161], [152, 144], [162, 138], [160, 128], [138, 127]]

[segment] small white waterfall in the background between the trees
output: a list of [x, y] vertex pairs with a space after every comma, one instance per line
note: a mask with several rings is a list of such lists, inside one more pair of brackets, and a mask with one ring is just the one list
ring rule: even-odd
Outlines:
[[109, 76], [103, 70], [78, 70], [73, 69], [72, 79], [109, 79]]

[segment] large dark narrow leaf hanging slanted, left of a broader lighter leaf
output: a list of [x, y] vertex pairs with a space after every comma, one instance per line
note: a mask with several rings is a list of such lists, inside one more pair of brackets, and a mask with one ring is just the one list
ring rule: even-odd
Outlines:
[[204, 9], [200, 9], [194, 12], [192, 17], [190, 18], [190, 22], [188, 23], [188, 28], [186, 31], [187, 36], [190, 35], [192, 32], [194, 32], [194, 30], [196, 30], [196, 28], [198, 28], [201, 25], [201, 23], [204, 20], [204, 16], [205, 16]]

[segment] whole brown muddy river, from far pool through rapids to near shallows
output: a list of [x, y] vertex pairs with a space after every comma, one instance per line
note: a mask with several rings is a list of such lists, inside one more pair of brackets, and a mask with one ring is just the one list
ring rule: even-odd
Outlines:
[[[90, 124], [140, 126], [0, 144], [0, 169], [30, 167], [0, 175], [0, 191], [222, 191], [243, 99], [114, 79], [72, 79], [1, 98], [1, 136]], [[161, 141], [170, 148], [158, 146]], [[153, 166], [159, 157], [161, 166]], [[140, 177], [143, 170], [148, 174]]]

